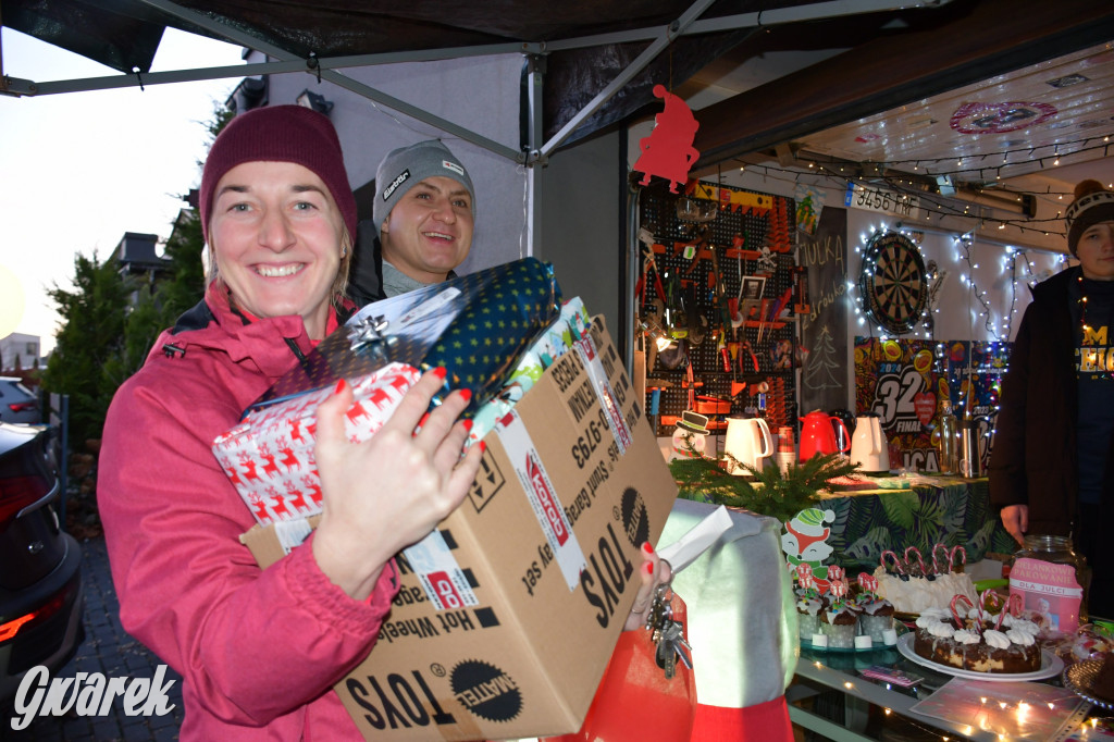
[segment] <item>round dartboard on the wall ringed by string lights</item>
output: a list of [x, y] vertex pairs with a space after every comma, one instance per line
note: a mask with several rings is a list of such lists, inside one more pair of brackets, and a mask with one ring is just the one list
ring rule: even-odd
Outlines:
[[888, 332], [909, 332], [928, 302], [925, 261], [911, 240], [898, 232], [878, 233], [867, 243], [859, 276], [862, 309]]

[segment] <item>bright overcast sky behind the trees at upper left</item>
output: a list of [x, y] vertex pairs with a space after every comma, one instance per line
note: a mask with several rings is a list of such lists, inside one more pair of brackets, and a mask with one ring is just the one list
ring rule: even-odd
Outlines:
[[[11, 29], [2, 33], [9, 77], [116, 74]], [[240, 47], [168, 29], [153, 70], [241, 62]], [[70, 285], [76, 253], [105, 260], [125, 232], [169, 234], [184, 206], [178, 196], [201, 180], [204, 124], [238, 82], [0, 96], [0, 336], [12, 330], [39, 335], [46, 352], [58, 323], [46, 290]], [[18, 293], [11, 275], [25, 295], [21, 313], [10, 305]]]

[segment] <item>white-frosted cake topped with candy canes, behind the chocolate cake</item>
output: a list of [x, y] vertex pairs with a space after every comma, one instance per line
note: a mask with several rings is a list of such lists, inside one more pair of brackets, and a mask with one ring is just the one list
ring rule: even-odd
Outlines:
[[[940, 554], [947, 558], [941, 559]], [[959, 568], [956, 560], [962, 559]], [[950, 551], [942, 544], [932, 548], [932, 566], [925, 564], [920, 551], [910, 546], [902, 559], [893, 551], [883, 551], [881, 564], [874, 569], [878, 596], [889, 601], [901, 613], [919, 614], [932, 606], [948, 605], [955, 595], [968, 601], [978, 599], [970, 576], [961, 572], [967, 553], [961, 546]]]

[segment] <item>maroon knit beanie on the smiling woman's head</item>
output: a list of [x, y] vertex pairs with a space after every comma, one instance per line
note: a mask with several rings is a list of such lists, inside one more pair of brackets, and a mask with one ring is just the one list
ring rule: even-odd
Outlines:
[[355, 240], [355, 196], [332, 121], [304, 106], [265, 106], [236, 116], [209, 148], [202, 174], [202, 231], [208, 242], [213, 191], [224, 174], [244, 163], [294, 163], [313, 170], [336, 202]]

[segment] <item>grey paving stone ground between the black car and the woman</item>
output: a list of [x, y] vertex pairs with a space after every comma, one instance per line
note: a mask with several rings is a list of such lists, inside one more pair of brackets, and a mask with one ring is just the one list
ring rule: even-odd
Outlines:
[[[101, 673], [110, 677], [154, 677], [162, 664], [147, 647], [120, 626], [120, 606], [108, 570], [104, 537], [81, 541], [81, 580], [85, 585], [85, 641], [74, 658], [53, 677], [77, 677], [78, 673]], [[116, 701], [107, 716], [38, 716], [21, 731], [11, 728], [10, 716], [0, 714], [0, 740], [12, 742], [168, 742], [178, 739], [182, 725], [182, 678], [169, 667], [165, 681], [174, 680], [167, 696], [174, 704], [165, 716], [128, 716]]]

